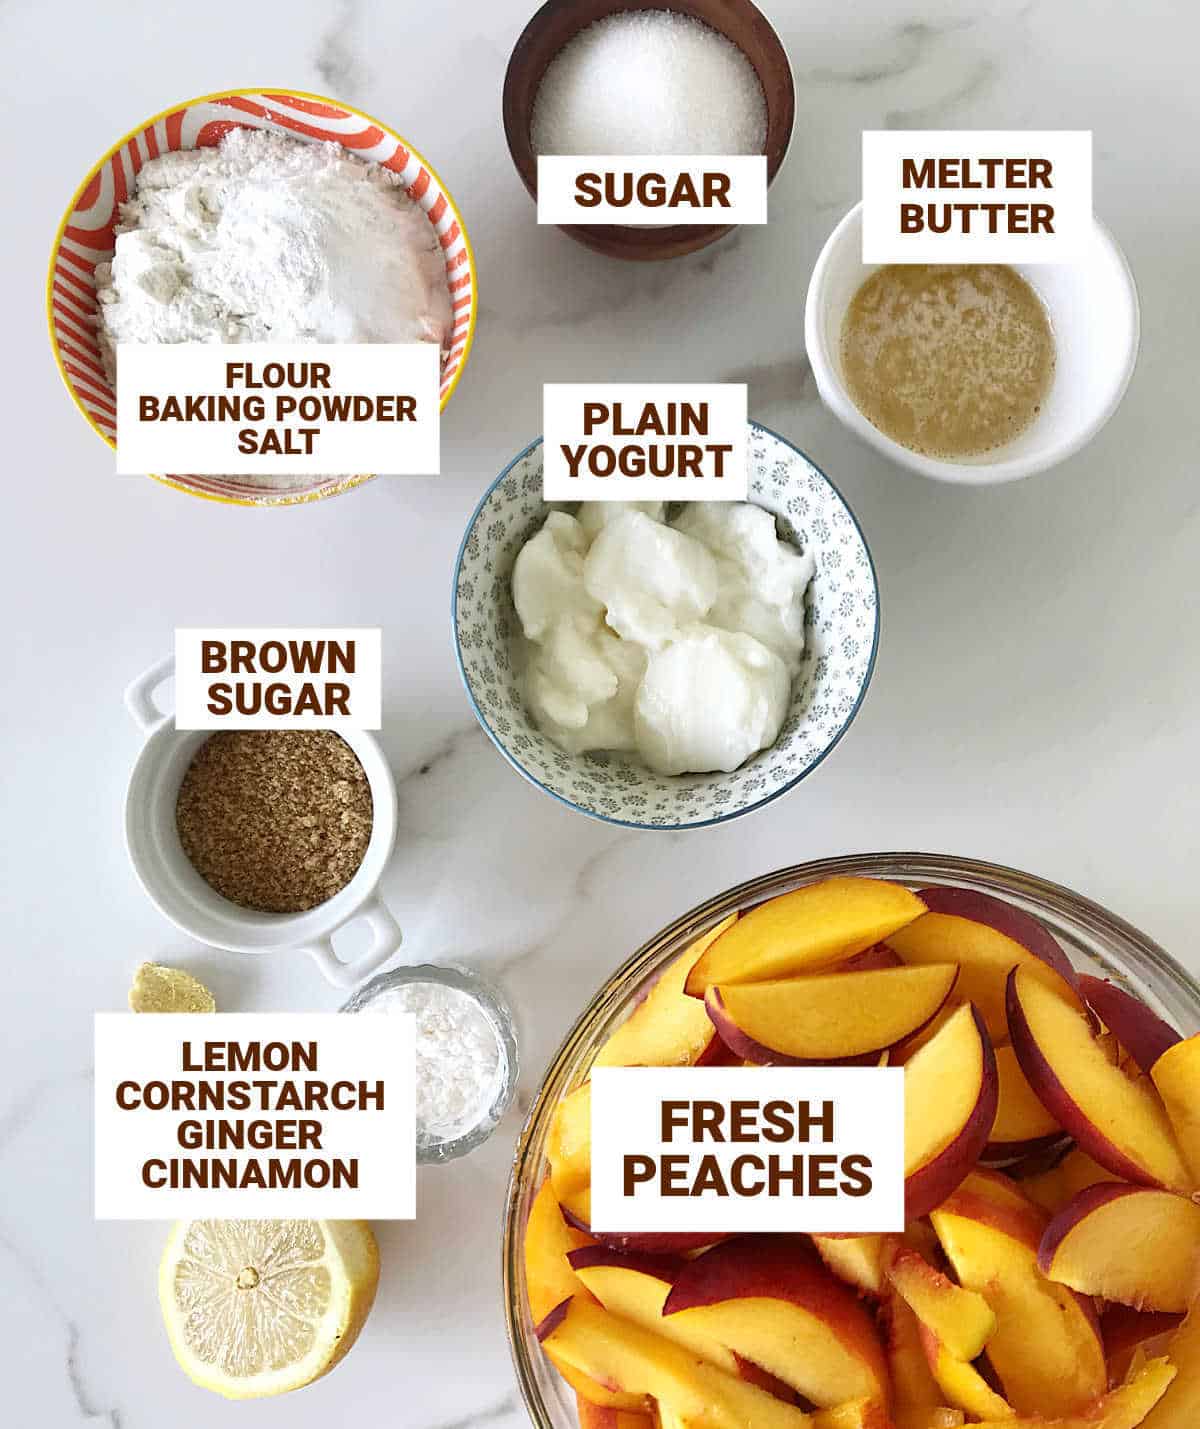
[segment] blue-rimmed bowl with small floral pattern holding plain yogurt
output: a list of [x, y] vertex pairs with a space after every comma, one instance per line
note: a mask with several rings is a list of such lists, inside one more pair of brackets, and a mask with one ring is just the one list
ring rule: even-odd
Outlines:
[[454, 567], [459, 672], [491, 743], [530, 783], [573, 809], [631, 829], [696, 829], [749, 813], [811, 773], [850, 727], [874, 669], [879, 587], [867, 543], [824, 473], [791, 443], [750, 423], [750, 500], [780, 534], [813, 549], [807, 649], [779, 739], [731, 775], [654, 775], [621, 755], [566, 755], [526, 707], [510, 589], [517, 552], [546, 520], [541, 439], [484, 493]]

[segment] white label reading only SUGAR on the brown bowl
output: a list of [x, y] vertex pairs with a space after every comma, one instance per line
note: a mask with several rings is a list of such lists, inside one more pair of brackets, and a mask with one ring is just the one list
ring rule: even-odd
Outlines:
[[766, 223], [766, 154], [541, 154], [539, 223]]

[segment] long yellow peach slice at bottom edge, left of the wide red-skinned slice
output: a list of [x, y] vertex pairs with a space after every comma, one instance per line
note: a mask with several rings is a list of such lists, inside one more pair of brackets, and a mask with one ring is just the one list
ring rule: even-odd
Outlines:
[[811, 1429], [803, 1410], [590, 1299], [576, 1296], [553, 1309], [537, 1338], [556, 1360], [590, 1379], [651, 1396], [680, 1429]]

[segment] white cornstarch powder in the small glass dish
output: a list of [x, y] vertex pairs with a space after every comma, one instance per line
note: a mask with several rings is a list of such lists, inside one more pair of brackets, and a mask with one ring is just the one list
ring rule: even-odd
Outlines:
[[477, 1126], [504, 1080], [504, 1049], [469, 993], [443, 983], [401, 983], [364, 1012], [411, 1012], [417, 1022], [417, 1137], [449, 1142]]

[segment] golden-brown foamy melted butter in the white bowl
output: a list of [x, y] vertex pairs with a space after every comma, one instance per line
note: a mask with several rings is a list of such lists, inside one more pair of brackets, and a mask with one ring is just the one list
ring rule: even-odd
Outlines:
[[1041, 410], [1054, 334], [1010, 267], [889, 264], [847, 309], [841, 370], [854, 404], [893, 442], [923, 456], [979, 456]]

